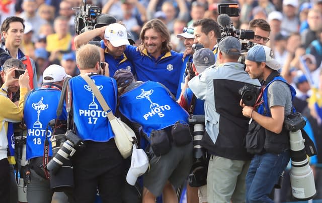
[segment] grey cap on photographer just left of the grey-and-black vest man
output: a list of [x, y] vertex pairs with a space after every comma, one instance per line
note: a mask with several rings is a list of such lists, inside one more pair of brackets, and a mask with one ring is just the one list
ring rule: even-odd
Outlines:
[[193, 54], [192, 61], [197, 69], [197, 72], [202, 73], [204, 69], [215, 64], [215, 55], [210, 49], [202, 48]]

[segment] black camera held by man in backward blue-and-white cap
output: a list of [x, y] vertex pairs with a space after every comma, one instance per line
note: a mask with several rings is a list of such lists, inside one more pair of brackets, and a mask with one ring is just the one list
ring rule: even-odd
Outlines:
[[254, 106], [261, 93], [261, 87], [246, 84], [244, 87], [239, 89], [238, 93], [241, 95], [241, 100], [243, 100], [243, 103], [246, 106]]

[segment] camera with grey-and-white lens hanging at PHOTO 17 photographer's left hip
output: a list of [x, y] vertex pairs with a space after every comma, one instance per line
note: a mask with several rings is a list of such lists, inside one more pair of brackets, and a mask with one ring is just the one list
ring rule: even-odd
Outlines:
[[76, 149], [84, 148], [84, 141], [79, 138], [72, 130], [69, 130], [65, 134], [66, 141], [60, 144], [58, 151], [57, 148], [53, 149], [56, 152], [53, 155], [53, 158], [47, 164], [47, 169], [54, 174], [60, 169], [60, 167], [64, 164], [65, 161], [69, 160], [69, 157], [72, 157], [76, 152]]

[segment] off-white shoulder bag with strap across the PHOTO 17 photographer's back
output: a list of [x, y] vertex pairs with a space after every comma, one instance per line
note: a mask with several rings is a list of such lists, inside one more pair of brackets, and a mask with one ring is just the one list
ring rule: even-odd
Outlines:
[[123, 158], [129, 157], [132, 154], [133, 144], [137, 143], [137, 139], [134, 131], [123, 121], [121, 121], [119, 118], [116, 118], [113, 115], [112, 110], [106, 103], [101, 92], [97, 89], [93, 80], [91, 80], [91, 78], [87, 75], [82, 76], [82, 78], [90, 85], [95, 97], [97, 98], [103, 110], [107, 114], [107, 117], [112, 127], [112, 131], [115, 135], [114, 141], [115, 141], [116, 147], [120, 151]]

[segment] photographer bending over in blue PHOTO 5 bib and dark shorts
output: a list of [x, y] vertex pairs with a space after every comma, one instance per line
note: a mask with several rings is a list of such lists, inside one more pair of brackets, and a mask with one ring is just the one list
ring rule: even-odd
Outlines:
[[[192, 137], [188, 113], [164, 85], [135, 81], [131, 72], [118, 70], [114, 78], [119, 92], [119, 110], [128, 120], [142, 126], [141, 147], [146, 149], [150, 168], [143, 175], [142, 202], [178, 202], [178, 188], [192, 164]], [[144, 172], [144, 171], [143, 171]]]

